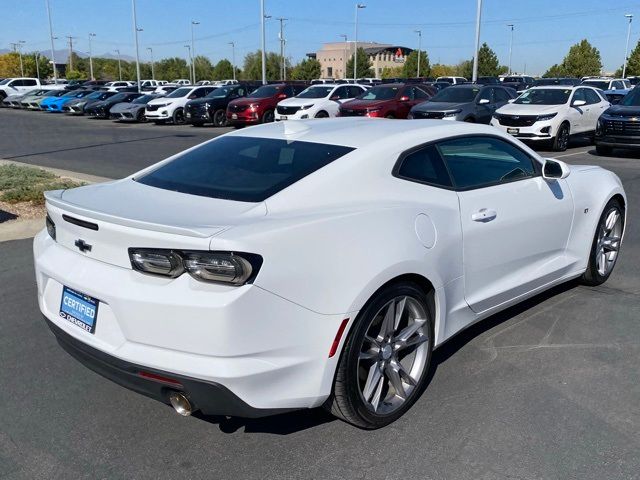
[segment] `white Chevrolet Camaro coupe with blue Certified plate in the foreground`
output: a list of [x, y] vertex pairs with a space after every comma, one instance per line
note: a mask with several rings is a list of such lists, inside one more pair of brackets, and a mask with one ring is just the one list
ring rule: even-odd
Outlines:
[[183, 415], [325, 406], [377, 428], [452, 335], [604, 282], [626, 197], [489, 126], [337, 118], [222, 135], [46, 208], [39, 306], [89, 368]]

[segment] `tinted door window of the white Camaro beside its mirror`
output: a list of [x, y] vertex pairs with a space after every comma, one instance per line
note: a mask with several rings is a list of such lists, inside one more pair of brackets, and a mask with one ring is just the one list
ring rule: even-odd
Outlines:
[[458, 189], [487, 187], [536, 175], [533, 160], [505, 140], [466, 137], [437, 144]]

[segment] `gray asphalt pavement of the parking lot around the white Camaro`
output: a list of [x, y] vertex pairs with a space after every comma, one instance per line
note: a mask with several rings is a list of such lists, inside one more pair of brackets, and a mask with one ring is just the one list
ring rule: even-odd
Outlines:
[[[107, 177], [224, 131], [2, 110], [0, 125], [0, 158]], [[182, 418], [122, 389], [58, 347], [31, 241], [0, 243], [0, 478], [640, 478], [640, 154], [602, 158], [577, 142], [548, 156], [622, 179], [630, 207], [612, 277], [563, 285], [446, 343], [416, 405], [373, 432], [321, 410]]]

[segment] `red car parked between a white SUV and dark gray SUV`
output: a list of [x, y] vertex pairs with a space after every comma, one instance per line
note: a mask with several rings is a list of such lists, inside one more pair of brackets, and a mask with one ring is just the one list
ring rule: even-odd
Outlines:
[[411, 107], [431, 98], [426, 87], [416, 84], [377, 85], [340, 106], [341, 117], [407, 118]]

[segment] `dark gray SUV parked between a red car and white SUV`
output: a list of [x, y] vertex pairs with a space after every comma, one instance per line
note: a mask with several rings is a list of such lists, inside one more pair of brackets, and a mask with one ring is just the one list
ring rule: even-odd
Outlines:
[[411, 109], [407, 118], [435, 118], [489, 124], [496, 109], [512, 98], [513, 89], [498, 85], [453, 85]]

